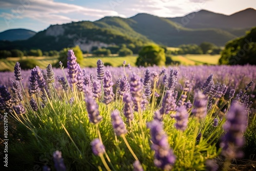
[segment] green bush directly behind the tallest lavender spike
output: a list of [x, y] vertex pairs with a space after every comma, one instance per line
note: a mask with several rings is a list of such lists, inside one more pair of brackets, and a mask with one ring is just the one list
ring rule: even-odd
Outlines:
[[59, 67], [59, 61], [63, 63], [63, 67], [67, 67], [68, 63], [68, 50], [72, 49], [76, 55], [77, 63], [81, 63], [83, 60], [82, 51], [79, 46], [72, 47], [72, 48], [64, 48], [59, 52], [59, 58], [57, 63], [54, 65], [55, 67]]

